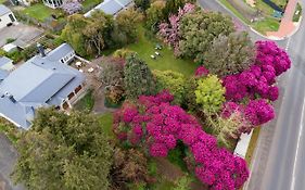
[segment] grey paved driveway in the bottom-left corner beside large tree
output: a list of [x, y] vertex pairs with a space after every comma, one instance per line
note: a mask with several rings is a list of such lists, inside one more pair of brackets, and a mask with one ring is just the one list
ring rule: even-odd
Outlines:
[[0, 190], [23, 190], [21, 186], [13, 186], [10, 174], [17, 159], [17, 152], [7, 137], [0, 132]]

